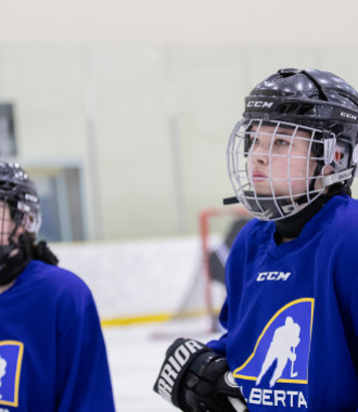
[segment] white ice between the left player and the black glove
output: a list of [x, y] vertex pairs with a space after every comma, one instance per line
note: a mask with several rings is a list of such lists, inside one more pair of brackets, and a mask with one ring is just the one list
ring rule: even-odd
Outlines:
[[[203, 343], [218, 337], [207, 333], [207, 319], [104, 327], [117, 412], [178, 411], [153, 391], [165, 351], [176, 337], [194, 337]], [[168, 334], [168, 336], [166, 336]], [[161, 337], [158, 337], [158, 335]]]

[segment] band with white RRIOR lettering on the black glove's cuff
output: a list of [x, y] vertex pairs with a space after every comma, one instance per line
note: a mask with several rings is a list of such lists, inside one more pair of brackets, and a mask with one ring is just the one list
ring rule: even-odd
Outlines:
[[157, 387], [159, 395], [167, 400], [170, 400], [171, 391], [180, 371], [188, 362], [192, 353], [203, 349], [196, 340], [187, 340], [180, 345], [162, 369]]

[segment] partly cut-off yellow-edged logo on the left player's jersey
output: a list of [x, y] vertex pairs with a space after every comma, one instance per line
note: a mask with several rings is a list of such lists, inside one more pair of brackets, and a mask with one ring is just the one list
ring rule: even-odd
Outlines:
[[18, 407], [23, 355], [23, 343], [17, 340], [0, 342], [0, 404]]

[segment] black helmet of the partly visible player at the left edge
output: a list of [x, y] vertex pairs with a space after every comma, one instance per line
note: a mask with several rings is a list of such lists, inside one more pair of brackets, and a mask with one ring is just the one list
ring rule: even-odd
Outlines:
[[[17, 247], [15, 233], [20, 227], [24, 232], [36, 235], [41, 224], [40, 202], [35, 183], [26, 172], [13, 163], [0, 163], [0, 202], [3, 203], [0, 216], [1, 255], [9, 256]], [[5, 207], [14, 226], [9, 231], [5, 222]]]

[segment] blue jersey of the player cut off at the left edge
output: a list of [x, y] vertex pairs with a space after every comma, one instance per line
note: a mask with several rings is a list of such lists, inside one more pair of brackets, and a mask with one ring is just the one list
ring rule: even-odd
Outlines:
[[0, 411], [114, 411], [92, 295], [75, 274], [33, 260], [0, 295]]

